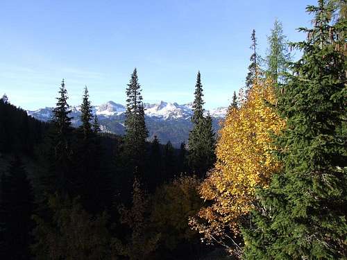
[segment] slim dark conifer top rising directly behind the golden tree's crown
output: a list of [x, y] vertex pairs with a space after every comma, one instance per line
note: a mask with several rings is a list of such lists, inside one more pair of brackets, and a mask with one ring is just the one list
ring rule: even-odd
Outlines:
[[251, 35], [251, 50], [253, 51], [251, 58], [251, 64], [248, 66], [248, 73], [246, 76], [246, 94], [248, 93], [249, 89], [251, 89], [254, 80], [259, 76], [260, 74], [260, 67], [259, 67], [259, 61], [260, 56], [257, 54], [257, 38], [255, 37], [255, 30], [253, 29], [252, 35]]

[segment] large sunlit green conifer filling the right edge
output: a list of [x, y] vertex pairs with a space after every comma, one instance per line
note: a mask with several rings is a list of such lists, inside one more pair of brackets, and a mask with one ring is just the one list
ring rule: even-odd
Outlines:
[[331, 23], [331, 6], [307, 6], [312, 29], [279, 94], [287, 129], [276, 141], [283, 163], [260, 189], [251, 229], [244, 230], [246, 259], [346, 259], [347, 152], [346, 46], [337, 37], [346, 19]]

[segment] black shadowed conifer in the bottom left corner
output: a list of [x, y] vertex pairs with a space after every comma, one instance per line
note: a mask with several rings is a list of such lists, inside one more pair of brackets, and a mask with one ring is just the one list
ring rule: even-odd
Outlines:
[[30, 259], [33, 191], [19, 157], [0, 184], [0, 259]]

